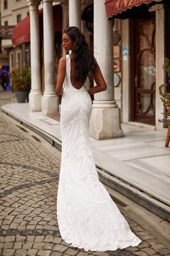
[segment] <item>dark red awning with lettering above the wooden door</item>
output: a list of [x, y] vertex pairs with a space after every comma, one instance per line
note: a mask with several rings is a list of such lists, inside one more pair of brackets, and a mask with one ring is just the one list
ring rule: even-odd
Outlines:
[[162, 0], [105, 0], [105, 7], [107, 12], [107, 18], [115, 16], [118, 13], [122, 13], [127, 9], [133, 7], [139, 7], [140, 4], [149, 4], [152, 1]]

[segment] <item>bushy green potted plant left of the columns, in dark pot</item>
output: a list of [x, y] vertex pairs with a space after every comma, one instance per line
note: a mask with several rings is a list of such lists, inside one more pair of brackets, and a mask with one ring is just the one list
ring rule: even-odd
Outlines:
[[14, 90], [17, 102], [25, 102], [26, 98], [28, 99], [28, 95], [31, 89], [30, 67], [24, 65], [23, 67], [19, 66], [13, 69], [11, 73], [11, 78], [12, 90]]

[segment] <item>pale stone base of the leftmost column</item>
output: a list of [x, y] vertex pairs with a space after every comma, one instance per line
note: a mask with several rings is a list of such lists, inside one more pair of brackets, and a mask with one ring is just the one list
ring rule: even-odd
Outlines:
[[42, 91], [31, 90], [29, 94], [29, 110], [32, 112], [41, 111], [42, 107]]

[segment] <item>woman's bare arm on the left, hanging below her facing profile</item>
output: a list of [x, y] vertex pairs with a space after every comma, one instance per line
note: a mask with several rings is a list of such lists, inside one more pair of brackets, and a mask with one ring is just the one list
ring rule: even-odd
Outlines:
[[63, 88], [63, 82], [66, 76], [66, 57], [62, 57], [58, 64], [58, 75], [57, 75], [57, 82], [55, 86], [55, 93], [58, 95], [61, 94]]

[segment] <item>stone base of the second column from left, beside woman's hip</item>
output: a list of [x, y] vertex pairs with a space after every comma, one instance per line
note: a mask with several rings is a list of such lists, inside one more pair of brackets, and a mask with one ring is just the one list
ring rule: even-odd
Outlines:
[[55, 93], [44, 93], [42, 96], [42, 114], [44, 116], [58, 116], [58, 96]]

